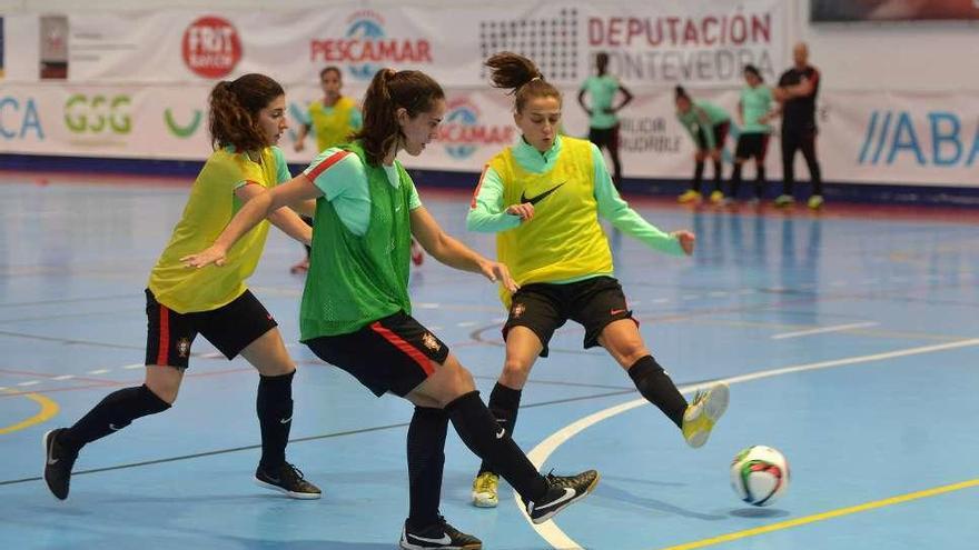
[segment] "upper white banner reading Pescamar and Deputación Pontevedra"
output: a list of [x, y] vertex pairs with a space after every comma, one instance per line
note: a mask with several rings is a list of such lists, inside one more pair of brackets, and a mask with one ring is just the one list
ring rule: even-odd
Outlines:
[[[325, 66], [365, 83], [383, 67], [415, 68], [448, 87], [485, 84], [483, 61], [510, 50], [544, 76], [576, 86], [605, 51], [633, 86], [724, 87], [744, 64], [773, 78], [784, 66], [788, 13], [779, 0], [680, 3], [584, 1], [445, 6], [325, 6], [36, 16], [37, 70], [19, 82], [186, 83], [263, 72], [288, 84], [315, 82]], [[30, 54], [36, 48], [22, 48]], [[30, 66], [26, 63], [24, 67]]]

